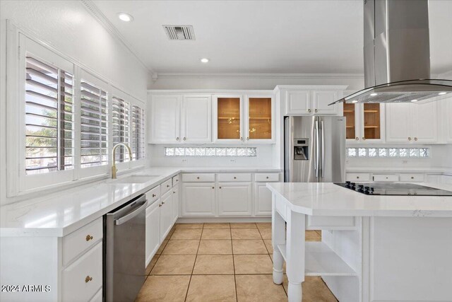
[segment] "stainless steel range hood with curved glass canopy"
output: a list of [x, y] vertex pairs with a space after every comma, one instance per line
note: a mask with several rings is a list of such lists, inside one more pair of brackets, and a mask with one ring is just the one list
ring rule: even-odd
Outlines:
[[452, 96], [430, 78], [427, 0], [364, 0], [364, 88], [335, 103], [428, 103]]

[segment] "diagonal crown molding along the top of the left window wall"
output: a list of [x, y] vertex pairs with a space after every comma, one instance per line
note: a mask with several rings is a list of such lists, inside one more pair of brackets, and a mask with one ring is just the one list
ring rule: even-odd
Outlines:
[[85, 7], [86, 11], [90, 13], [95, 20], [102, 25], [107, 32], [114, 37], [118, 42], [120, 42], [124, 47], [126, 47], [126, 50], [129, 50], [131, 54], [133, 54], [133, 57], [135, 57], [138, 62], [140, 62], [143, 67], [148, 70], [148, 72], [151, 75], [152, 79], [157, 79], [157, 72], [155, 72], [150, 67], [146, 66], [146, 64], [143, 62], [143, 59], [141, 59], [140, 56], [138, 56], [137, 52], [133, 50], [133, 47], [129, 46], [129, 42], [127, 42], [126, 38], [119, 33], [119, 30], [108, 20], [108, 18], [100, 11], [100, 9], [94, 4], [91, 0], [80, 0], [83, 4], [83, 7]]

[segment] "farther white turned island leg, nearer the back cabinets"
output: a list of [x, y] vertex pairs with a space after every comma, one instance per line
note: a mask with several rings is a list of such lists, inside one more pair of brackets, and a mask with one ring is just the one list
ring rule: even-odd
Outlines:
[[278, 245], [285, 245], [285, 221], [275, 210], [275, 194], [273, 194], [273, 215], [271, 218], [271, 238], [273, 245], [273, 282], [283, 284], [284, 258]]

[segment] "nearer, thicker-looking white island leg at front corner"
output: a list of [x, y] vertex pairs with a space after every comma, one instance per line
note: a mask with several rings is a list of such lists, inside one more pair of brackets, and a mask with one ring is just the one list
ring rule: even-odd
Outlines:
[[288, 211], [286, 239], [286, 271], [289, 285], [287, 297], [290, 302], [302, 301], [302, 281], [304, 281], [304, 231], [306, 216]]

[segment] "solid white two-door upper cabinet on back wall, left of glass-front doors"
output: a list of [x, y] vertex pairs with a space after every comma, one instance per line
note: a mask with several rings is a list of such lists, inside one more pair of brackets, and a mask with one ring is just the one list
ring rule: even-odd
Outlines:
[[152, 144], [212, 141], [210, 95], [152, 95], [148, 133]]

